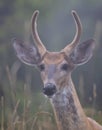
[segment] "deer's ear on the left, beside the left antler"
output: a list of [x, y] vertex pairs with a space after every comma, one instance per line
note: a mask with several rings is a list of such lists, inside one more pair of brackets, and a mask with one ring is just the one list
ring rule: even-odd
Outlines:
[[23, 41], [14, 39], [13, 47], [23, 63], [33, 66], [41, 61], [41, 56], [33, 45], [26, 45]]

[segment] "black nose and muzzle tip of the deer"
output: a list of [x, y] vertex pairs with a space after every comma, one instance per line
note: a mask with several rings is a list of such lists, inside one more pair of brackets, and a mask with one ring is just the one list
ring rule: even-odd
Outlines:
[[43, 88], [43, 93], [48, 97], [53, 96], [56, 93], [56, 86], [52, 83], [47, 83]]

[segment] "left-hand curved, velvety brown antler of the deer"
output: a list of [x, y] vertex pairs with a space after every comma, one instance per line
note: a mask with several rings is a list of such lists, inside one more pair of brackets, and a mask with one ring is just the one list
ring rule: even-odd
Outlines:
[[39, 15], [39, 11], [36, 10], [33, 13], [32, 19], [31, 19], [31, 29], [32, 29], [32, 36], [34, 38], [35, 44], [37, 49], [39, 50], [39, 53], [41, 55], [44, 55], [44, 53], [46, 52], [46, 48], [43, 45], [42, 41], [40, 40], [40, 37], [38, 35], [38, 31], [37, 31], [37, 17]]

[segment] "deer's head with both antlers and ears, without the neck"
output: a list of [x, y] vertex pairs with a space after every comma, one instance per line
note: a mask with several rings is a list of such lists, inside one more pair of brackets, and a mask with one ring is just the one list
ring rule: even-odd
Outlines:
[[17, 39], [14, 39], [13, 46], [18, 58], [23, 63], [38, 67], [44, 83], [43, 93], [48, 97], [53, 97], [53, 95], [67, 86], [72, 70], [76, 66], [88, 62], [92, 57], [94, 40], [89, 39], [79, 44], [82, 25], [77, 13], [72, 11], [76, 24], [76, 34], [73, 41], [60, 52], [49, 52], [37, 32], [38, 14], [39, 11], [35, 11], [31, 19], [35, 46], [25, 45], [23, 41]]

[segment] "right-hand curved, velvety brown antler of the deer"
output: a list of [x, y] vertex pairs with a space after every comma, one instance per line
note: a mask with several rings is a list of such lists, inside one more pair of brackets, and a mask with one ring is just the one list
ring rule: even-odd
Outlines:
[[77, 46], [77, 44], [79, 43], [79, 40], [80, 40], [81, 33], [82, 33], [82, 24], [81, 24], [78, 14], [76, 13], [75, 10], [72, 10], [72, 15], [73, 15], [73, 18], [74, 18], [74, 21], [76, 24], [76, 34], [74, 36], [73, 41], [63, 49], [67, 53], [69, 51], [72, 51], [73, 48], [75, 46]]

